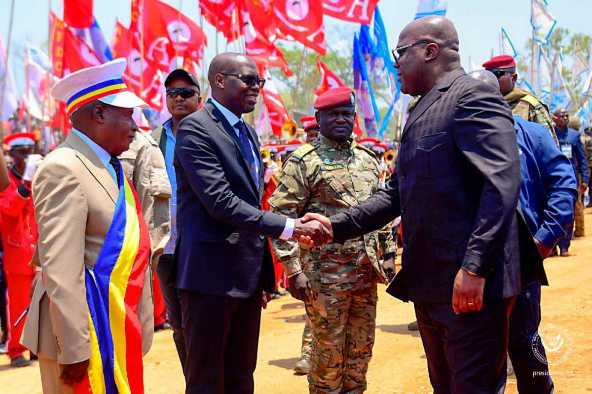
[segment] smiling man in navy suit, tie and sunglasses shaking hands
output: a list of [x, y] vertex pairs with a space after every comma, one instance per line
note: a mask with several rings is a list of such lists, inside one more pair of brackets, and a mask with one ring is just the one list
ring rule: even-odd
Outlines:
[[[255, 131], [259, 77], [250, 57], [223, 53], [208, 72], [212, 98], [177, 130], [177, 229], [169, 283], [179, 290], [186, 393], [252, 393], [261, 306], [275, 288], [267, 237], [287, 239], [318, 222], [261, 210], [263, 164]], [[265, 297], [262, 301], [262, 295]]]

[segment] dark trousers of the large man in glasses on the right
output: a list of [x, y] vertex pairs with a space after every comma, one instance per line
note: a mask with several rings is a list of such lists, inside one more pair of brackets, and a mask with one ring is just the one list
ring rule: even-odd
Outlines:
[[455, 315], [451, 303], [415, 303], [435, 394], [501, 394], [515, 297], [485, 300], [481, 311]]

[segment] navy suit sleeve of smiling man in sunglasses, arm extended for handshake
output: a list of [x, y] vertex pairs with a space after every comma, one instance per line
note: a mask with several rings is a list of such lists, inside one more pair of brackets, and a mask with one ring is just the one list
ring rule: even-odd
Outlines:
[[[212, 124], [210, 130], [213, 128], [217, 126]], [[181, 121], [177, 130], [175, 154], [191, 189], [214, 219], [239, 230], [278, 238], [286, 219], [247, 204], [232, 192], [207, 130], [195, 118]]]

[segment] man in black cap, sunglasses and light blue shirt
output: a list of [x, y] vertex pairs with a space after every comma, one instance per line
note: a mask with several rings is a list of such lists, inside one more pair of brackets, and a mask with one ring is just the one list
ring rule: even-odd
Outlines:
[[181, 318], [181, 304], [179, 303], [177, 289], [166, 285], [177, 241], [177, 179], [175, 167], [173, 166], [173, 157], [175, 157], [175, 142], [179, 122], [187, 115], [197, 111], [201, 103], [201, 93], [200, 85], [195, 76], [183, 69], [173, 70], [169, 74], [165, 80], [165, 88], [166, 107], [171, 118], [162, 127], [154, 130], [152, 137], [159, 144], [160, 150], [165, 156], [166, 173], [169, 176], [172, 191], [170, 198], [170, 238], [156, 267], [156, 273], [165, 299], [166, 310], [169, 314], [169, 324], [173, 327], [173, 340], [175, 340], [179, 360], [181, 360], [181, 367], [185, 372], [187, 353]]

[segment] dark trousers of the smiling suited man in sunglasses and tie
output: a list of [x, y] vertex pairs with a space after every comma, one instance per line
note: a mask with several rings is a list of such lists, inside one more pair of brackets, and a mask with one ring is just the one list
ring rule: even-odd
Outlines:
[[230, 298], [179, 289], [185, 325], [186, 394], [252, 394], [262, 289]]

